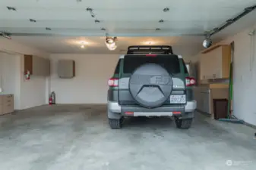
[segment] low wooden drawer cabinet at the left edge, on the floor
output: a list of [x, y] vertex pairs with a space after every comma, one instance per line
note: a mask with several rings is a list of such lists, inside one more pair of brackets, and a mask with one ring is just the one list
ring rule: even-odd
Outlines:
[[14, 95], [0, 95], [0, 115], [14, 112]]

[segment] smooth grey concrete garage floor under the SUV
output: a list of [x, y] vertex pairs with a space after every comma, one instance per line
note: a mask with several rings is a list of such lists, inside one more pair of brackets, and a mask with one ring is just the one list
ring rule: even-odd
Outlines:
[[256, 167], [255, 129], [201, 114], [189, 130], [175, 128], [169, 118], [128, 119], [122, 130], [111, 130], [106, 106], [60, 105], [0, 116], [0, 124], [5, 170]]

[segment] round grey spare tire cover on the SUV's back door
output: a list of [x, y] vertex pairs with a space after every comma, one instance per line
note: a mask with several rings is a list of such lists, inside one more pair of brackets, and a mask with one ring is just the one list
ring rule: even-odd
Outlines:
[[146, 63], [132, 73], [129, 91], [142, 107], [160, 107], [172, 93], [172, 77], [156, 63]]

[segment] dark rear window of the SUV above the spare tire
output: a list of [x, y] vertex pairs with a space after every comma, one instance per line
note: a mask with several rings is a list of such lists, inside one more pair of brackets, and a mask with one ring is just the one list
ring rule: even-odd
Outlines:
[[156, 63], [163, 66], [169, 74], [180, 73], [179, 58], [177, 56], [125, 56], [123, 73], [133, 73], [137, 67], [144, 63]]

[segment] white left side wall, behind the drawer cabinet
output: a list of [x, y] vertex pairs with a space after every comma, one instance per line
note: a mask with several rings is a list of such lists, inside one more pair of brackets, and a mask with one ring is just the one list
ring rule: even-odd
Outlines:
[[4, 73], [5, 77], [8, 78], [5, 81], [6, 84], [13, 85], [15, 82], [16, 91], [10, 86], [3, 92], [14, 94], [15, 109], [22, 110], [46, 104], [47, 78], [31, 76], [30, 80], [24, 79], [24, 54], [33, 54], [40, 57], [49, 57], [49, 54], [8, 39], [0, 39], [0, 51], [11, 54], [5, 57], [2, 64], [6, 66]]

